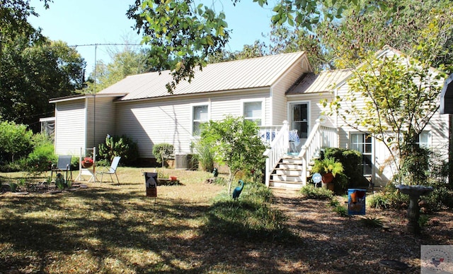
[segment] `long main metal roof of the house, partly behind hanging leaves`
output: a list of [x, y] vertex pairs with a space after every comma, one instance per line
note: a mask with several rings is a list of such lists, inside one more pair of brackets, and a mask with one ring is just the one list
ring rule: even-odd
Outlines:
[[[303, 59], [304, 52], [295, 52], [208, 64], [202, 70], [195, 69], [190, 83], [176, 85], [173, 95], [270, 87], [294, 64], [302, 66]], [[170, 71], [127, 76], [98, 94], [127, 93], [122, 101], [169, 96], [165, 85], [172, 79]]]

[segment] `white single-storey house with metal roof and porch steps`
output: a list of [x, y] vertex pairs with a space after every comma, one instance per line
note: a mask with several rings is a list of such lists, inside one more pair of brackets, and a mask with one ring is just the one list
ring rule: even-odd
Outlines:
[[[172, 143], [176, 154], [191, 153], [199, 125], [229, 114], [257, 121], [263, 137], [271, 139], [272, 148], [265, 153], [268, 186], [300, 188], [311, 157], [323, 146], [338, 145], [361, 150], [371, 161], [364, 174], [377, 183], [386, 181], [387, 174], [379, 172], [383, 157], [379, 143], [348, 129], [336, 117], [321, 115], [321, 99], [347, 90], [351, 74], [338, 70], [315, 75], [306, 54], [296, 52], [209, 64], [196, 71], [190, 83], [177, 85], [173, 94], [165, 87], [171, 81], [169, 71], [128, 76], [96, 95], [50, 101], [55, 104], [55, 153], [78, 156], [81, 149], [103, 143], [107, 134], [132, 138], [142, 158], [154, 157], [152, 147], [157, 143]], [[439, 115], [427, 129], [431, 145], [448, 143], [446, 120]], [[288, 132], [294, 129], [300, 144], [291, 148]], [[270, 131], [274, 133], [265, 134]], [[291, 170], [283, 171], [282, 157], [289, 149], [297, 150], [292, 155], [297, 159], [290, 159]]]

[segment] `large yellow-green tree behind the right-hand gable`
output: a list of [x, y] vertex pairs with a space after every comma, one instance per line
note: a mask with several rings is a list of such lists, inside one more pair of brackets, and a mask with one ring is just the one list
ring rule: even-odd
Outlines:
[[[406, 54], [416, 54], [413, 47], [420, 44], [420, 32], [427, 30], [433, 20], [438, 25], [449, 24], [453, 13], [451, 1], [418, 0], [392, 1], [392, 11], [374, 9], [358, 10], [349, 7], [343, 11], [343, 18], [323, 21], [316, 25], [316, 39], [329, 54], [328, 61], [337, 68], [354, 68], [365, 55], [372, 55], [384, 45]], [[447, 28], [444, 28], [448, 30]], [[431, 33], [442, 44], [443, 52], [435, 52], [432, 66], [452, 62], [452, 33]], [[416, 55], [422, 60], [425, 56]], [[429, 57], [428, 57], [429, 58]]]

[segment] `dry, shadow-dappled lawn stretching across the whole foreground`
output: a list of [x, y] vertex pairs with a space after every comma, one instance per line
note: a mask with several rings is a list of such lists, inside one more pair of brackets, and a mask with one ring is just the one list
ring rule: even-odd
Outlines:
[[[414, 237], [406, 210], [367, 208], [384, 225], [370, 227], [294, 191], [271, 196], [246, 184], [233, 201], [226, 186], [205, 182], [210, 173], [176, 169], [164, 174], [181, 184], [157, 186], [154, 199], [142, 169], [117, 172], [120, 185], [0, 193], [0, 273], [394, 273], [381, 260], [418, 273], [420, 245], [453, 244], [452, 210], [430, 215]], [[20, 177], [0, 174], [4, 183]]]

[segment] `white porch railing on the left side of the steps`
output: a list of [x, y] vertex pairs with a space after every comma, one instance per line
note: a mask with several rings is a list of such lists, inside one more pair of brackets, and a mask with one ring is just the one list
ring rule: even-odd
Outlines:
[[[272, 129], [271, 127], [270, 129]], [[288, 121], [283, 121], [283, 126], [279, 131], [266, 131], [265, 128], [260, 129], [260, 133], [263, 130], [265, 133], [265, 139], [267, 133], [269, 133], [270, 148], [265, 150], [263, 155], [266, 157], [266, 174], [265, 174], [265, 184], [269, 186], [270, 172], [274, 169], [277, 163], [280, 161], [282, 155], [287, 153], [289, 148], [289, 126]], [[276, 130], [276, 129], [275, 129]], [[273, 137], [273, 133], [274, 134]], [[265, 140], [267, 141], [267, 140]]]

